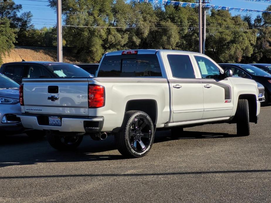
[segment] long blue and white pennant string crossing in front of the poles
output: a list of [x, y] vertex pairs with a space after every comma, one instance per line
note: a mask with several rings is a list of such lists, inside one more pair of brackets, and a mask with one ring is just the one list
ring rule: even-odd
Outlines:
[[[187, 3], [181, 1], [170, 1], [170, 0], [138, 0], [140, 3], [162, 3], [163, 5], [173, 5], [180, 7], [191, 7], [196, 8], [199, 6], [198, 3]], [[257, 12], [257, 13], [271, 13], [271, 11], [263, 11], [263, 10], [253, 10], [253, 9], [245, 9], [245, 8], [234, 8], [234, 7], [226, 7], [226, 6], [216, 6], [211, 4], [202, 4], [202, 8], [213, 8], [215, 10], [226, 10], [226, 11], [237, 11], [237, 12]]]

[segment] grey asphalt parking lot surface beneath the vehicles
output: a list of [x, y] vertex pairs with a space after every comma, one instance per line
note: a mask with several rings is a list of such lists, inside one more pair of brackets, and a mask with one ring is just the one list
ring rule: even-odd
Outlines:
[[0, 142], [0, 202], [271, 202], [271, 106], [251, 135], [236, 125], [156, 133], [151, 152], [123, 159], [113, 137], [85, 136], [74, 152], [46, 138], [12, 135]]

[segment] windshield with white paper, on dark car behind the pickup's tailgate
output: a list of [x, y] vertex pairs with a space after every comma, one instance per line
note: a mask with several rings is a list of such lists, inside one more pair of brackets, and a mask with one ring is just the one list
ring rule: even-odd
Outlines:
[[72, 64], [48, 64], [45, 65], [51, 70], [58, 78], [92, 78], [93, 75], [89, 74], [82, 68]]

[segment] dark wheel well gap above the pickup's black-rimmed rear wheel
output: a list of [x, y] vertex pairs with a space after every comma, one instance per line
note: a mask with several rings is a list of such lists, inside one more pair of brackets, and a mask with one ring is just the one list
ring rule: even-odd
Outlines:
[[153, 99], [135, 99], [130, 100], [126, 104], [125, 112], [131, 110], [144, 111], [150, 117], [154, 125], [157, 119], [157, 104]]

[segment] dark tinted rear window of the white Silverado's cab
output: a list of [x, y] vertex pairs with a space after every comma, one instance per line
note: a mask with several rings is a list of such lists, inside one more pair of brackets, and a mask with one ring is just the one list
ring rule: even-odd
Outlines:
[[98, 77], [162, 77], [156, 54], [105, 56]]

